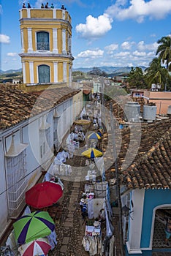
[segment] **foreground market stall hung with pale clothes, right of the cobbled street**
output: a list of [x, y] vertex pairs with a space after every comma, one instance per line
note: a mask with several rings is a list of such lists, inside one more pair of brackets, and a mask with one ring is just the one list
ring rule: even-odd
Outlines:
[[93, 255], [110, 255], [113, 250], [112, 209], [110, 207], [110, 196], [107, 181], [85, 184], [80, 200], [86, 204], [87, 213], [85, 236], [82, 244], [84, 249]]

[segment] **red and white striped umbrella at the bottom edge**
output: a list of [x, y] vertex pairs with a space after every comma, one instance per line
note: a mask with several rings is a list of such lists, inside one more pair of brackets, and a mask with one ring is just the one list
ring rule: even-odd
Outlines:
[[18, 251], [22, 256], [47, 255], [50, 248], [51, 246], [47, 238], [39, 238], [28, 244], [22, 244], [22, 246], [18, 248]]

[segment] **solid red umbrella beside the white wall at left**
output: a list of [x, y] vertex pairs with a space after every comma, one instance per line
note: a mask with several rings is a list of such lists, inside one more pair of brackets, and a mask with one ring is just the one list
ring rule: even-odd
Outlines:
[[34, 208], [52, 206], [62, 194], [62, 188], [59, 184], [45, 181], [34, 185], [26, 192], [26, 203]]

